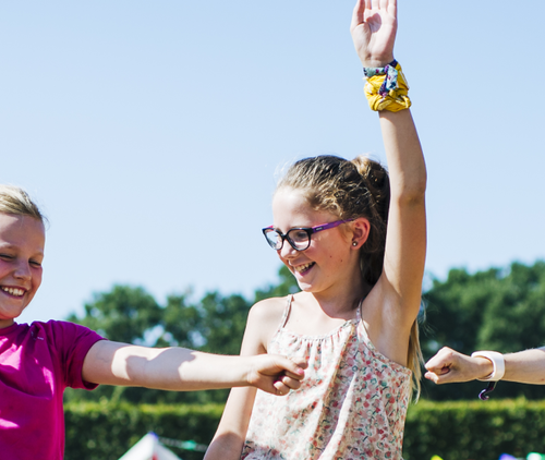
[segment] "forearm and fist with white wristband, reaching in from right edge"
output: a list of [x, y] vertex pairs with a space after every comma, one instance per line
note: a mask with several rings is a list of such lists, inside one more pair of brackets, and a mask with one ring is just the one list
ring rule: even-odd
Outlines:
[[[504, 360], [502, 380], [545, 385], [545, 348], [504, 354]], [[486, 358], [471, 358], [445, 347], [426, 363], [424, 377], [437, 385], [453, 384], [485, 378], [493, 368]]]

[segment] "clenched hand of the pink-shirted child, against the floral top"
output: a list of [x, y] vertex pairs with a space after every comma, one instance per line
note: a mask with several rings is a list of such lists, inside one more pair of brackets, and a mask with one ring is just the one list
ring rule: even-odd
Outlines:
[[298, 389], [304, 378], [306, 361], [303, 359], [288, 359], [276, 354], [259, 354], [250, 358], [252, 362], [247, 382], [272, 395], [288, 395]]

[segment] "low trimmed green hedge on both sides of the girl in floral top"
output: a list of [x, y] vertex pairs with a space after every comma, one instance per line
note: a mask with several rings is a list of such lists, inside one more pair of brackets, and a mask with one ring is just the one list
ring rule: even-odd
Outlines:
[[[117, 460], [147, 432], [208, 444], [223, 407], [65, 404], [65, 460]], [[203, 453], [171, 448], [183, 460]], [[545, 452], [545, 401], [489, 400], [431, 402], [409, 408], [405, 460], [498, 460], [501, 453], [525, 458]], [[304, 460], [304, 459], [302, 459]]]

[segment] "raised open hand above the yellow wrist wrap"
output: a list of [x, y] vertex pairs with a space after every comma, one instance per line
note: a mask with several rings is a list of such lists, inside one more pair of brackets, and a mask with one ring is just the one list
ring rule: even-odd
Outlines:
[[393, 60], [398, 28], [397, 0], [358, 0], [350, 32], [365, 68], [383, 68]]

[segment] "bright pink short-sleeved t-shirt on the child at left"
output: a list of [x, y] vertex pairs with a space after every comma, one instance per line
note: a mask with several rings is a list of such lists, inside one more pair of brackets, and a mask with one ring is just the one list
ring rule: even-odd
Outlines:
[[83, 360], [102, 340], [65, 322], [13, 324], [0, 329], [0, 457], [62, 460], [64, 388], [83, 382]]

